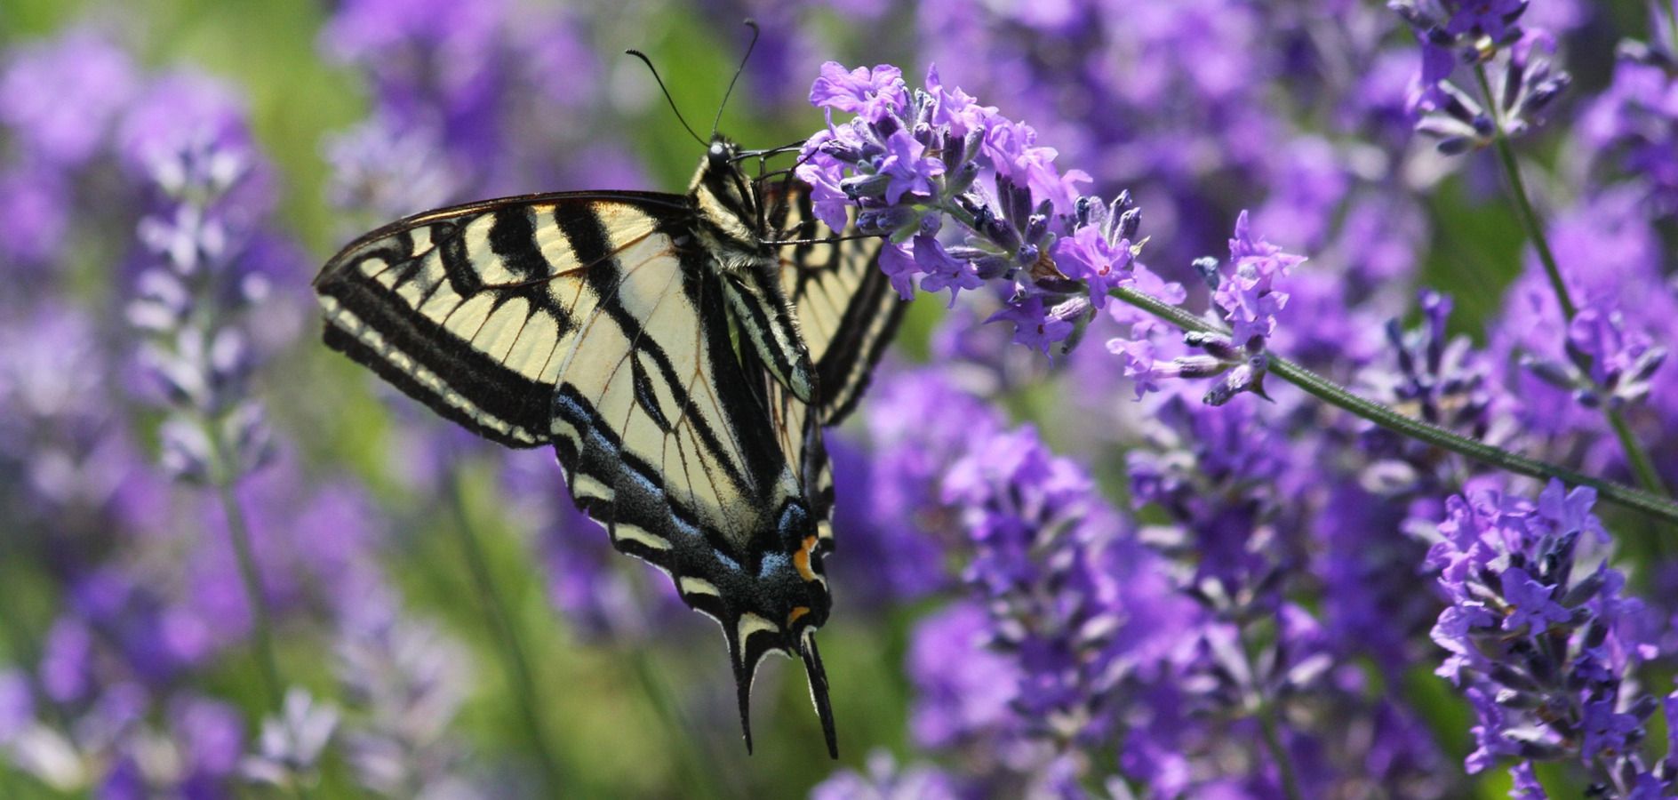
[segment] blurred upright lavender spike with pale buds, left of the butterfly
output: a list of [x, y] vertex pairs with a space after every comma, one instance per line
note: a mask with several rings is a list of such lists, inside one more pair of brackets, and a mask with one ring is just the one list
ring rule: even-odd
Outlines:
[[247, 389], [255, 354], [230, 324], [270, 285], [247, 260], [272, 206], [265, 168], [238, 106], [191, 77], [153, 87], [129, 111], [122, 141], [161, 200], [139, 225], [156, 267], [139, 277], [129, 320], [148, 334], [143, 364], [176, 411], [163, 426], [163, 461], [181, 478], [232, 480], [270, 455]]

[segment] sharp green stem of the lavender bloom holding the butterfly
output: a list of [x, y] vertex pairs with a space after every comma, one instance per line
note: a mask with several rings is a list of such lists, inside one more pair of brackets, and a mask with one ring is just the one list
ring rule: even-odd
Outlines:
[[[1134, 288], [1114, 288], [1113, 297], [1124, 300], [1138, 309], [1143, 309], [1154, 317], [1159, 317], [1183, 330], [1201, 330], [1208, 334], [1223, 332], [1218, 325], [1206, 322], [1183, 309], [1163, 304], [1153, 297], [1148, 297]], [[1351, 411], [1381, 428], [1410, 436], [1413, 439], [1433, 444], [1436, 448], [1448, 449], [1451, 453], [1472, 458], [1488, 466], [1498, 470], [1507, 470], [1519, 475], [1527, 475], [1532, 478], [1557, 478], [1566, 483], [1577, 486], [1591, 486], [1597, 491], [1602, 500], [1633, 508], [1651, 517], [1658, 517], [1670, 523], [1678, 523], [1678, 505], [1665, 496], [1643, 491], [1623, 483], [1606, 481], [1601, 478], [1592, 478], [1589, 475], [1569, 470], [1561, 465], [1552, 465], [1549, 461], [1539, 461], [1535, 458], [1522, 456], [1520, 453], [1512, 453], [1503, 448], [1495, 448], [1483, 441], [1475, 441], [1467, 436], [1460, 436], [1436, 424], [1423, 423], [1394, 411], [1389, 406], [1383, 406], [1368, 397], [1359, 397], [1342, 386], [1299, 366], [1289, 359], [1270, 356], [1270, 374], [1300, 387], [1305, 394], [1311, 394], [1331, 406]]]

